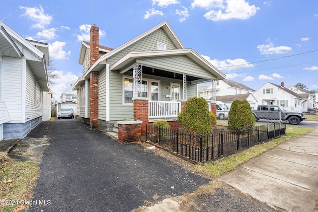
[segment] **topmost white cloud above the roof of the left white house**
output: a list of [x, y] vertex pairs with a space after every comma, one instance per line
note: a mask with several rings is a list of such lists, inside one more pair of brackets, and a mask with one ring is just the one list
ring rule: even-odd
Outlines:
[[35, 22], [32, 25], [33, 28], [44, 29], [53, 20], [51, 15], [45, 14], [42, 5], [39, 5], [39, 7], [19, 6], [19, 8], [25, 10], [21, 16], [25, 16]]

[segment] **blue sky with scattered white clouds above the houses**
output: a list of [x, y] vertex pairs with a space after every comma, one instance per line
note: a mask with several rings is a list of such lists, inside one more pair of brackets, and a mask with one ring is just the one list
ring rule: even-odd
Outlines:
[[266, 82], [318, 90], [316, 0], [12, 0], [1, 2], [0, 20], [49, 44], [58, 101], [82, 75], [90, 25], [100, 28], [100, 45], [116, 48], [163, 20], [227, 79], [255, 90]]

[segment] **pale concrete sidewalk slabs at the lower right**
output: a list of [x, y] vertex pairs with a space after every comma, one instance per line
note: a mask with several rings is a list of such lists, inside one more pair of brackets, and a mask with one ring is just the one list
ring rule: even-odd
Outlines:
[[318, 128], [249, 160], [218, 178], [288, 212], [314, 212], [318, 200]]

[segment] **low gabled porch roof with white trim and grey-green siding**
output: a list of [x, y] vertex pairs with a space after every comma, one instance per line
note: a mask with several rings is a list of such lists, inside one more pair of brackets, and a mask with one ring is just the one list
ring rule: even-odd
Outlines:
[[182, 74], [186, 73], [187, 80], [192, 84], [225, 78], [225, 74], [192, 49], [130, 52], [113, 64], [110, 70], [125, 73], [131, 71], [135, 63], [146, 67], [142, 72], [151, 75], [182, 79]]

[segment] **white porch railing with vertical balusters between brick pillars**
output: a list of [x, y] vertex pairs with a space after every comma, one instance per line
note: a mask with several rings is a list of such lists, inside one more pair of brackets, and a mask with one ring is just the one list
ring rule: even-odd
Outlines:
[[181, 102], [149, 101], [149, 119], [177, 118]]

